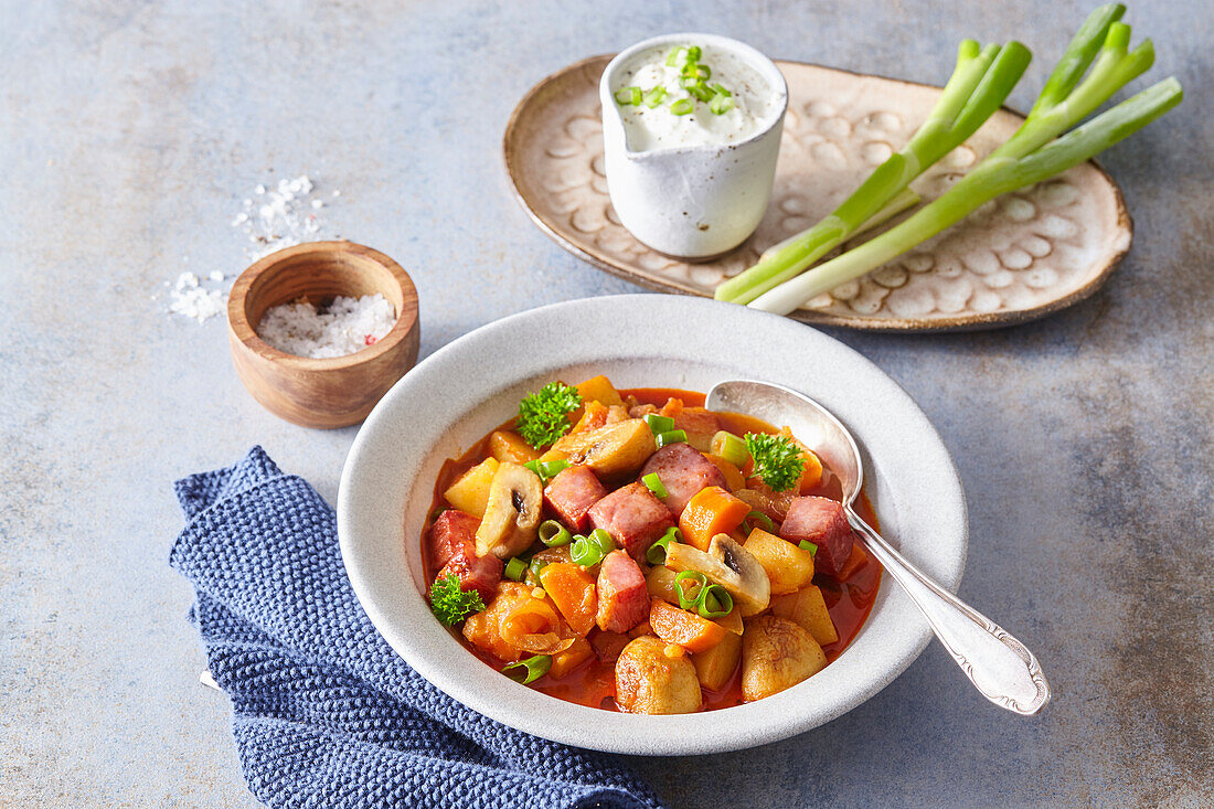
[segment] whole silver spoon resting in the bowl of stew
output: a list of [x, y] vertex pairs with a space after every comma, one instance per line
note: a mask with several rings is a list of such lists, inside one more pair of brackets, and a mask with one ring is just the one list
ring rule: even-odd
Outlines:
[[1033, 652], [907, 561], [852, 509], [864, 481], [864, 468], [856, 441], [839, 419], [807, 396], [760, 381], [720, 383], [708, 392], [707, 406], [792, 428], [840, 477], [844, 511], [861, 544], [923, 611], [936, 638], [978, 692], [997, 706], [1025, 715], [1045, 707], [1050, 685]]

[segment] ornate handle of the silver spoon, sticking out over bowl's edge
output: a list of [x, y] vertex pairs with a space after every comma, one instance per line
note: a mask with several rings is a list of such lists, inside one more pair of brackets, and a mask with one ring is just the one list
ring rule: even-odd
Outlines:
[[1045, 707], [1050, 685], [1025, 644], [907, 561], [850, 508], [847, 519], [864, 547], [923, 611], [936, 638], [982, 696], [1023, 715]]

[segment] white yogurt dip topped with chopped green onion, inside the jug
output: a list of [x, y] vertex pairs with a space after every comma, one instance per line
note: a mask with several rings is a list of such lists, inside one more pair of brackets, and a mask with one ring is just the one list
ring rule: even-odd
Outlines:
[[[754, 67], [705, 43], [635, 53], [614, 83], [612, 94], [634, 152], [737, 143], [762, 131], [781, 112], [775, 89]], [[631, 103], [637, 91], [640, 103]]]

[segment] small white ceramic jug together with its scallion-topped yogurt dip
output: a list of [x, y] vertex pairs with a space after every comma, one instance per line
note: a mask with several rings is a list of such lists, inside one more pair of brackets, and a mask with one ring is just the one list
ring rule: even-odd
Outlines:
[[788, 108], [771, 60], [716, 34], [654, 36], [607, 64], [599, 101], [607, 191], [639, 242], [696, 261], [754, 232]]

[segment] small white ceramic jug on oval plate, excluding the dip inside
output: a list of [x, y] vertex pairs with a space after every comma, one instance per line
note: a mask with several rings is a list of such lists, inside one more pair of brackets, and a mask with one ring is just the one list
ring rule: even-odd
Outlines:
[[[754, 135], [731, 143], [632, 151], [612, 87], [636, 53], [660, 46], [702, 45], [726, 51], [762, 77], [777, 109]], [[755, 49], [714, 34], [666, 34], [632, 45], [607, 64], [599, 81], [607, 188], [624, 225], [646, 245], [682, 259], [710, 259], [742, 244], [767, 210], [788, 109], [788, 85]]]

